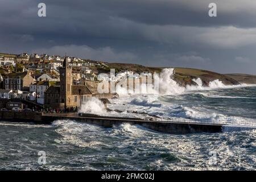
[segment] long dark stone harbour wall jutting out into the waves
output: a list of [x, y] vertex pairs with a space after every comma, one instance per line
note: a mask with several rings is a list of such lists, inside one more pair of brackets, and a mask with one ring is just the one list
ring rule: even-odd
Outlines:
[[121, 125], [122, 123], [130, 123], [131, 125], [141, 125], [150, 130], [169, 134], [217, 133], [222, 131], [221, 125], [210, 125], [205, 123], [146, 121], [142, 119], [114, 117], [81, 117], [77, 114], [43, 114], [36, 112], [0, 111], [1, 121], [49, 124], [58, 119], [70, 119], [104, 127], [113, 127]]

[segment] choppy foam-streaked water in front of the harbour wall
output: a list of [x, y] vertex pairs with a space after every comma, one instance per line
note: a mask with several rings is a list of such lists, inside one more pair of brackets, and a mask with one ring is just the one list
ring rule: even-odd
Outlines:
[[[255, 130], [169, 135], [126, 123], [107, 129], [58, 120], [49, 126], [35, 127], [34, 133], [23, 126], [1, 127], [0, 169], [255, 170]], [[36, 163], [40, 150], [47, 152], [44, 166]], [[209, 163], [211, 151], [216, 164]]]

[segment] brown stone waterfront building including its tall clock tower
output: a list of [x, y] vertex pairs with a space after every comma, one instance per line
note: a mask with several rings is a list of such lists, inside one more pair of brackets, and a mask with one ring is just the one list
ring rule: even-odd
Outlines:
[[67, 57], [60, 68], [60, 86], [49, 86], [44, 93], [44, 108], [73, 109], [81, 107], [82, 102], [92, 97], [85, 85], [73, 85], [72, 68]]

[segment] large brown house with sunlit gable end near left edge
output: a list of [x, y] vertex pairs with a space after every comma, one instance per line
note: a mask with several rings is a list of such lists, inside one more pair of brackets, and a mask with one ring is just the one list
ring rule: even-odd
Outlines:
[[31, 83], [34, 83], [34, 78], [28, 72], [10, 73], [3, 78], [5, 89], [29, 90]]

